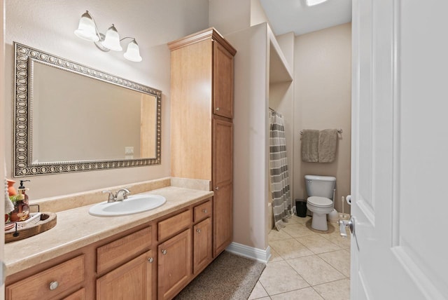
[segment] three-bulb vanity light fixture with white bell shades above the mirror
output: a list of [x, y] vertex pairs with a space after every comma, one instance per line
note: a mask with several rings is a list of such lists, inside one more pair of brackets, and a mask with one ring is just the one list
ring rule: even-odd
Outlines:
[[132, 39], [132, 41], [127, 44], [127, 50], [124, 56], [127, 60], [131, 60], [132, 62], [141, 62], [139, 44], [137, 44], [137, 41], [135, 41], [133, 37], [126, 36], [123, 39], [120, 39], [120, 35], [113, 24], [107, 29], [106, 35], [100, 33], [98, 31], [97, 23], [94, 21], [93, 16], [89, 11], [85, 11], [85, 13], [81, 15], [78, 29], [75, 30], [75, 34], [81, 39], [94, 42], [95, 46], [104, 52], [109, 50], [121, 51], [123, 48], [120, 45], [120, 41], [123, 41], [124, 39]]

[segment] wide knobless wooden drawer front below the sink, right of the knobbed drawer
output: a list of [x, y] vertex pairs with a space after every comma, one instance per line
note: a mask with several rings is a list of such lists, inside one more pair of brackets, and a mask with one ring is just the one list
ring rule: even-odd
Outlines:
[[128, 261], [130, 257], [151, 248], [151, 226], [97, 248], [97, 272]]

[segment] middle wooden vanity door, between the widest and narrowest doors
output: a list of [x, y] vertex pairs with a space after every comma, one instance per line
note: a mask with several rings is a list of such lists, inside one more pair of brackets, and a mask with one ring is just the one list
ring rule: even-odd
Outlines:
[[158, 299], [172, 299], [190, 281], [191, 229], [158, 247]]

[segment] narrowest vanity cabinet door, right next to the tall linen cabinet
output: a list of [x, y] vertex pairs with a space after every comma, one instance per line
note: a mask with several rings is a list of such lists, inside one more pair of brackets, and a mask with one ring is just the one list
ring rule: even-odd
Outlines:
[[212, 259], [210, 218], [194, 226], [193, 232], [193, 272], [199, 273]]

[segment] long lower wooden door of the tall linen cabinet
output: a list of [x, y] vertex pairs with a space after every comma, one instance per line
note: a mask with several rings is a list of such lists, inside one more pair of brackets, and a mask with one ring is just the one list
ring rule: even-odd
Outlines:
[[232, 242], [233, 124], [214, 119], [214, 257]]

